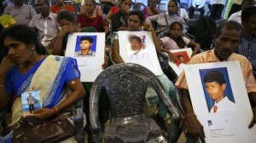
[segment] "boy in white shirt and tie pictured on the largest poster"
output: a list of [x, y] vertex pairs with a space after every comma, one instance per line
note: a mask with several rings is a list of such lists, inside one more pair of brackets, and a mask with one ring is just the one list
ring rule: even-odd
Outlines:
[[227, 84], [223, 73], [219, 71], [210, 71], [203, 77], [204, 86], [207, 94], [214, 100], [214, 105], [210, 113], [230, 112], [236, 110], [236, 104], [229, 100], [224, 91]]

